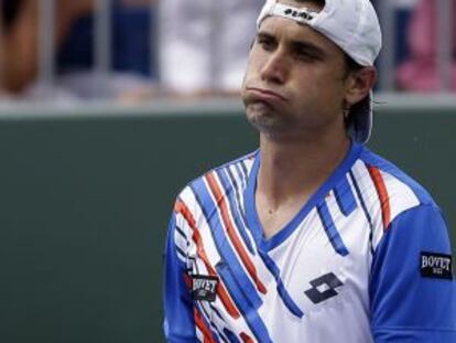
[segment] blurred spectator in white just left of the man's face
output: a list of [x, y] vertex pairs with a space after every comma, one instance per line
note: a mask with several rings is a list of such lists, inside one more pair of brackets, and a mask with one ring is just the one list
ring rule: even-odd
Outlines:
[[161, 81], [172, 94], [237, 94], [264, 0], [163, 0]]

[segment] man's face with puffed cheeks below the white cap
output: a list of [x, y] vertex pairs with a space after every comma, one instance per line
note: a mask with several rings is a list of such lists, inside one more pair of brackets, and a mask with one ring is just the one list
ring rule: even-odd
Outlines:
[[269, 17], [253, 42], [243, 79], [247, 117], [264, 133], [302, 137], [344, 130], [345, 76], [344, 53], [336, 44], [310, 26]]

